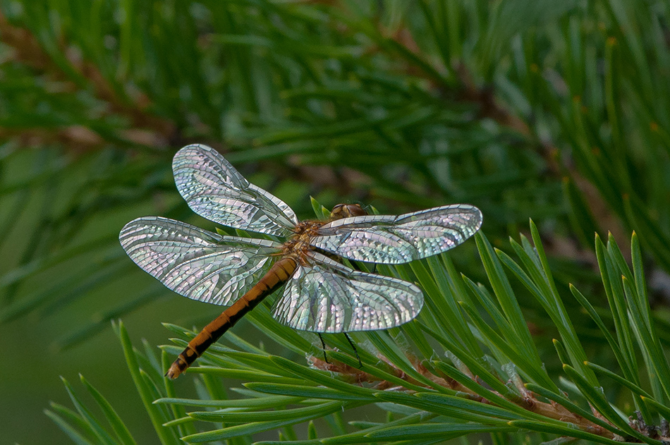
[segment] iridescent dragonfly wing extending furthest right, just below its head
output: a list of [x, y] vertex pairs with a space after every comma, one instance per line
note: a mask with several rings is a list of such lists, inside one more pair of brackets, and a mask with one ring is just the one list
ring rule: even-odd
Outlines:
[[336, 219], [320, 227], [310, 244], [350, 260], [399, 264], [449, 250], [481, 225], [477, 207], [446, 205], [397, 217]]

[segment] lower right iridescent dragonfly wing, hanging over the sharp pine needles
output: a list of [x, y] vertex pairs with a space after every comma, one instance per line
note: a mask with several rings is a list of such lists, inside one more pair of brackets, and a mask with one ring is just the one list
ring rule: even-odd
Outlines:
[[317, 252], [300, 265], [276, 300], [273, 315], [295, 329], [352, 332], [389, 329], [409, 322], [423, 306], [417, 286], [357, 272]]

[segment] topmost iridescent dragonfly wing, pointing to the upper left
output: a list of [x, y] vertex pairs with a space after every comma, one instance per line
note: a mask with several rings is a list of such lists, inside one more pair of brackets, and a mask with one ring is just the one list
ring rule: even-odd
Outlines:
[[174, 181], [193, 212], [243, 230], [288, 236], [298, 223], [291, 207], [249, 183], [219, 152], [187, 145], [174, 155]]

